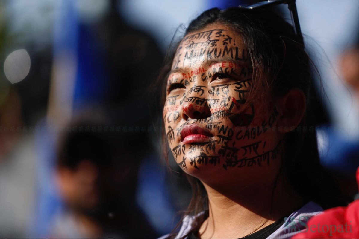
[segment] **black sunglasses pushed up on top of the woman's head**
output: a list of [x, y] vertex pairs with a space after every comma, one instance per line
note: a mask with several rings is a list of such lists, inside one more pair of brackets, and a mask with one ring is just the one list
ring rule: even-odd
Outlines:
[[293, 22], [294, 34], [298, 37], [298, 42], [303, 44], [303, 35], [302, 31], [300, 30], [299, 25], [299, 18], [297, 12], [297, 6], [295, 6], [295, 0], [267, 0], [256, 4], [246, 4], [246, 5], [239, 5], [239, 8], [246, 8], [246, 9], [260, 9], [260, 8], [268, 8], [270, 6], [279, 5], [279, 4], [288, 4], [288, 9], [290, 11], [290, 16]]

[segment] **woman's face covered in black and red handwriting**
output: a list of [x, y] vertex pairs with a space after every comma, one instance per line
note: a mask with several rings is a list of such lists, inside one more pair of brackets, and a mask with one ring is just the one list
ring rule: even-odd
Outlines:
[[224, 25], [181, 41], [167, 78], [163, 120], [173, 156], [188, 174], [213, 181], [279, 168], [281, 140], [272, 132], [279, 113], [252, 72], [241, 36]]

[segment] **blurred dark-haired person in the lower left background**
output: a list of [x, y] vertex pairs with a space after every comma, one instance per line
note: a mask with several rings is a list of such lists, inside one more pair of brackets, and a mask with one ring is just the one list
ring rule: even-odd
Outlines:
[[[51, 238], [153, 238], [136, 205], [143, 134], [110, 132], [101, 109], [80, 115], [59, 142], [56, 178], [65, 210]], [[97, 129], [93, 132], [90, 129]], [[145, 147], [146, 148], [146, 147]]]

